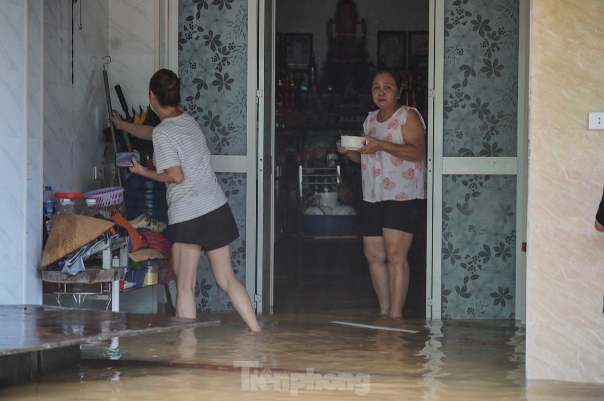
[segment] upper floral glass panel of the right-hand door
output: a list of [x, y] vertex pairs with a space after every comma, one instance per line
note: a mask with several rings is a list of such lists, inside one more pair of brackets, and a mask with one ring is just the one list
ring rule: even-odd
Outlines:
[[518, 0], [447, 0], [443, 156], [516, 156]]

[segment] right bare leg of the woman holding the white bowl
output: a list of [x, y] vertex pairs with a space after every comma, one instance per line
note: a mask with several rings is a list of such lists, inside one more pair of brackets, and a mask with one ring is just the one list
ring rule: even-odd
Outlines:
[[390, 288], [389, 317], [401, 317], [409, 291], [409, 262], [407, 254], [413, 234], [399, 230], [382, 229], [388, 255], [388, 285]]

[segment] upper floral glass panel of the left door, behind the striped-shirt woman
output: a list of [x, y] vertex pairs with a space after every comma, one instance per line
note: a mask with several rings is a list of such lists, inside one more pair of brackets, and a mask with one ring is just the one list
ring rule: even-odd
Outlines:
[[212, 154], [246, 154], [247, 0], [178, 2], [182, 104]]

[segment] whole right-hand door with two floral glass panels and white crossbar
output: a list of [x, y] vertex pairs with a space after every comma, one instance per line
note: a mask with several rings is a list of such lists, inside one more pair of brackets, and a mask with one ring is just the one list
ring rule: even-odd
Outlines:
[[515, 319], [524, 183], [519, 0], [436, 4], [432, 246], [440, 272], [432, 291], [440, 299], [432, 316]]

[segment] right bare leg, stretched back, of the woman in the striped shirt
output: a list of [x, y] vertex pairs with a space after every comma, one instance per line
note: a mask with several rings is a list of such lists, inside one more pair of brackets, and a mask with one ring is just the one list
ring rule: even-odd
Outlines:
[[248, 325], [249, 331], [260, 332], [260, 326], [256, 320], [254, 308], [249, 300], [248, 291], [242, 283], [237, 280], [233, 273], [233, 264], [231, 263], [231, 245], [225, 245], [222, 248], [207, 251], [210, 268], [216, 279], [216, 284], [231, 299], [235, 310]]

